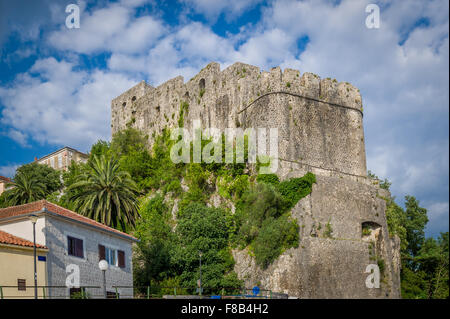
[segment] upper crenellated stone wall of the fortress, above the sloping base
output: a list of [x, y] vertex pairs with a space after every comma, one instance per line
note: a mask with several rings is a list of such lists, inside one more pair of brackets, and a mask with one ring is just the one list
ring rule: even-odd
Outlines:
[[221, 71], [213, 62], [186, 83], [181, 76], [156, 88], [142, 81], [111, 111], [113, 134], [131, 125], [149, 135], [149, 145], [180, 121], [186, 128], [196, 119], [221, 130], [277, 127], [279, 161], [366, 176], [362, 100], [348, 82], [239, 62]]

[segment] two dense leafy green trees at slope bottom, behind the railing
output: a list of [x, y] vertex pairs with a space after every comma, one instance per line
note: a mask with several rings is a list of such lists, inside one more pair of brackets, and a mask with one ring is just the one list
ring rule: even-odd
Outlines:
[[[218, 293], [219, 288], [239, 288], [242, 282], [233, 272], [234, 260], [228, 247], [227, 213], [201, 203], [190, 203], [178, 213], [176, 231], [169, 207], [157, 195], [141, 206], [136, 225], [138, 258], [135, 280], [138, 285], [186, 287], [194, 293], [200, 276], [199, 251], [202, 252], [202, 286]], [[160, 288], [159, 293], [173, 293]]]

